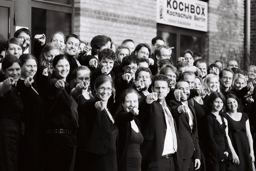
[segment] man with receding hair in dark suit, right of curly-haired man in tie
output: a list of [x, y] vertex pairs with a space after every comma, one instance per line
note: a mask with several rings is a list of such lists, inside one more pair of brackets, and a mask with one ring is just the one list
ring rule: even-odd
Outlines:
[[176, 84], [176, 87], [182, 90], [184, 95], [180, 97], [181, 101], [171, 100], [169, 107], [172, 109], [173, 118], [177, 123], [182, 149], [183, 163], [181, 171], [193, 171], [200, 167], [197, 118], [191, 100], [187, 100], [190, 95], [189, 83], [182, 80]]

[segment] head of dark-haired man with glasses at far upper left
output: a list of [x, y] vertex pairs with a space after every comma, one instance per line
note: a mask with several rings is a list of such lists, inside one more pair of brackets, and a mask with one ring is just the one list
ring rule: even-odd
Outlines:
[[29, 29], [21, 28], [15, 31], [14, 37], [20, 39], [20, 42], [23, 45], [24, 51], [28, 48], [30, 45], [31, 40], [31, 32]]

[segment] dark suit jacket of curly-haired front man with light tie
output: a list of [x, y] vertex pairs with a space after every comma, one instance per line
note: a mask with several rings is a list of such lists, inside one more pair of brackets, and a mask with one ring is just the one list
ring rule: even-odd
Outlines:
[[[143, 112], [140, 110], [141, 112], [137, 118], [139, 118], [141, 121], [141, 132], [144, 138], [144, 141], [141, 145], [142, 160], [147, 160], [148, 162], [157, 162], [163, 154], [167, 129], [164, 109], [158, 101], [147, 104], [146, 98], [140, 104], [140, 107], [143, 108]], [[177, 161], [179, 168], [181, 168], [183, 157], [175, 120], [174, 127], [178, 146]]]

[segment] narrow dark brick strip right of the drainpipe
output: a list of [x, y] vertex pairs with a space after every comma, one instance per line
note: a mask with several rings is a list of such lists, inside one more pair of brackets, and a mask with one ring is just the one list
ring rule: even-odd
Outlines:
[[256, 0], [250, 2], [250, 63], [256, 65]]

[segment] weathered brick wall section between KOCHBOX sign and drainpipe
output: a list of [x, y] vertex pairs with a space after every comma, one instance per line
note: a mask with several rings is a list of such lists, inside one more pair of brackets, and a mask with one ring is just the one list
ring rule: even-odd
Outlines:
[[[236, 60], [243, 69], [244, 0], [209, 0], [205, 56], [209, 64]], [[226, 66], [226, 65], [225, 65]]]

